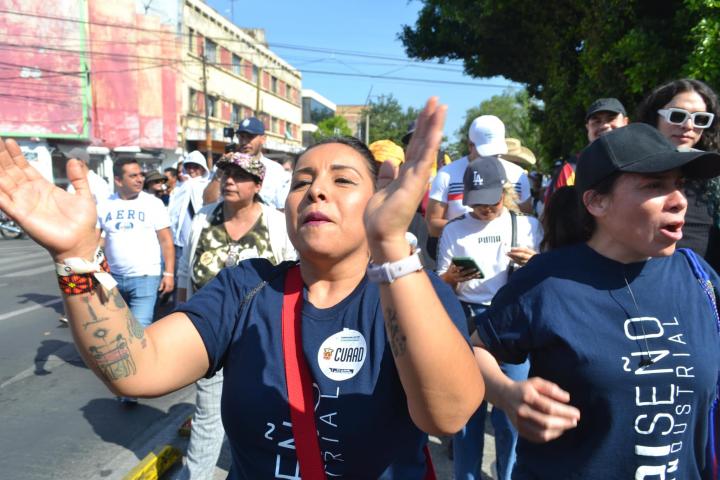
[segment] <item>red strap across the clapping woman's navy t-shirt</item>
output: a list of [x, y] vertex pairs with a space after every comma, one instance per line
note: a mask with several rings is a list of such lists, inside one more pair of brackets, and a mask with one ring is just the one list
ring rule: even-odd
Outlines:
[[290, 421], [295, 451], [300, 463], [300, 476], [305, 480], [325, 480], [325, 467], [320, 456], [312, 377], [302, 351], [302, 276], [300, 267], [290, 268], [285, 277], [282, 310], [283, 357], [288, 387]]

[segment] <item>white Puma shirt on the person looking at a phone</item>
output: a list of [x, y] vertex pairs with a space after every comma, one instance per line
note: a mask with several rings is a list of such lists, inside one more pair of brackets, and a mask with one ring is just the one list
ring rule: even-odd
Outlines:
[[[533, 217], [517, 215], [517, 246], [540, 250], [543, 230]], [[438, 247], [437, 271], [445, 273], [453, 257], [472, 257], [483, 279], [458, 284], [460, 300], [468, 303], [490, 303], [495, 293], [508, 281], [510, 257], [506, 254], [512, 244], [512, 219], [504, 208], [500, 216], [491, 221], [478, 220], [470, 214], [456, 218], [445, 225]]]

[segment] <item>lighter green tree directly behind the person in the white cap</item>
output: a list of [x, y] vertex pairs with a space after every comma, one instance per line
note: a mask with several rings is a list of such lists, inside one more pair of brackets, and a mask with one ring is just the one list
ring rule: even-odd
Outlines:
[[472, 121], [480, 115], [495, 115], [505, 124], [505, 135], [519, 139], [540, 160], [543, 158], [540, 128], [532, 121], [533, 114], [540, 110], [525, 90], [506, 90], [501, 95], [494, 95], [468, 109], [462, 126], [455, 132], [457, 141], [448, 146], [448, 154], [452, 158], [467, 155], [467, 132]]

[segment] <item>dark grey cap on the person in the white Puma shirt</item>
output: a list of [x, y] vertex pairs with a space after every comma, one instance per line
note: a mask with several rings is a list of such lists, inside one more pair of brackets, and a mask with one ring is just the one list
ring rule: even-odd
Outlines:
[[463, 205], [495, 205], [502, 197], [505, 169], [495, 157], [470, 162], [463, 176]]

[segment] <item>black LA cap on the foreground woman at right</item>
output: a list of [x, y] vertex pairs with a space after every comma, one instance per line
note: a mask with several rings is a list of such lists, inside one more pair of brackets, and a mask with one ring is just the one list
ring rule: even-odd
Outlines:
[[720, 175], [720, 154], [678, 151], [655, 127], [631, 123], [599, 137], [580, 153], [575, 170], [578, 194], [616, 172], [660, 173], [682, 168], [690, 178]]

